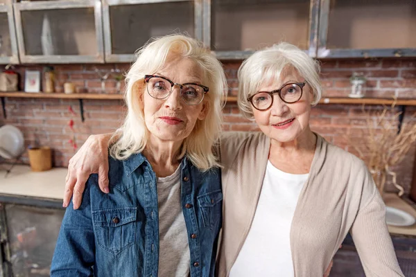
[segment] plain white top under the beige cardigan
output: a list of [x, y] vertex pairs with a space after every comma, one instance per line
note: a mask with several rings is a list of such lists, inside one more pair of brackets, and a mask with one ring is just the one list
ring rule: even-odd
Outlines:
[[291, 224], [308, 176], [283, 172], [268, 161], [252, 226], [230, 277], [294, 276]]

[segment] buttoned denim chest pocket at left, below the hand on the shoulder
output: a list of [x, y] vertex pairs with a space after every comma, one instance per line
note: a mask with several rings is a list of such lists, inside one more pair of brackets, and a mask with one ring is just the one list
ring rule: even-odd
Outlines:
[[117, 254], [135, 244], [137, 208], [109, 208], [92, 212], [98, 245]]

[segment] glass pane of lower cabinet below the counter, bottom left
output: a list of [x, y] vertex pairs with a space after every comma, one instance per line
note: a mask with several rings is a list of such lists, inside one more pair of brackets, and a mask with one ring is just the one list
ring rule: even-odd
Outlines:
[[64, 210], [6, 205], [15, 277], [49, 276]]

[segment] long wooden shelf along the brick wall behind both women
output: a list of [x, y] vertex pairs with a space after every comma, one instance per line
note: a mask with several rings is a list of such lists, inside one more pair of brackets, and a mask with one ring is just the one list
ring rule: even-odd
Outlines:
[[[123, 94], [99, 93], [28, 93], [28, 92], [0, 92], [0, 97], [13, 98], [58, 98], [58, 99], [96, 99], [123, 100]], [[228, 96], [227, 102], [237, 102], [236, 96]], [[320, 104], [353, 104], [353, 105], [392, 105], [393, 99], [384, 98], [327, 98], [320, 100]], [[416, 99], [397, 99], [398, 106], [416, 106]]]

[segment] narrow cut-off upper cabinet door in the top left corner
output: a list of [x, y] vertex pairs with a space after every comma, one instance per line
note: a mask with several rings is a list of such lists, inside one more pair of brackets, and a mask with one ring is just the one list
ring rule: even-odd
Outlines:
[[10, 0], [0, 0], [0, 64], [17, 64], [17, 40], [13, 7]]

